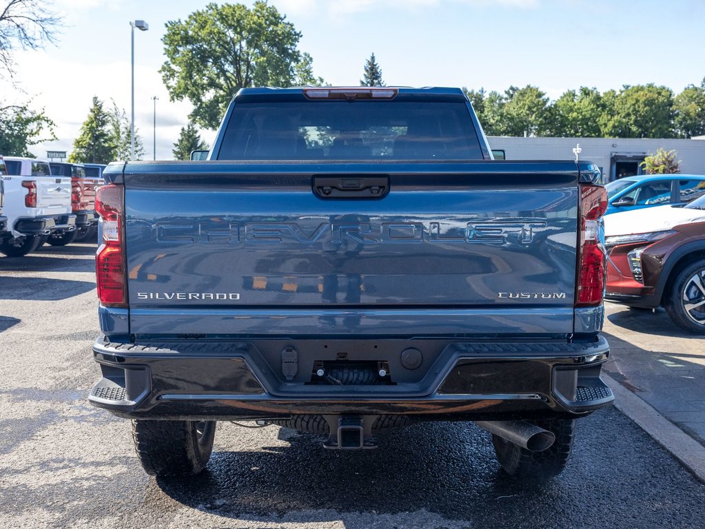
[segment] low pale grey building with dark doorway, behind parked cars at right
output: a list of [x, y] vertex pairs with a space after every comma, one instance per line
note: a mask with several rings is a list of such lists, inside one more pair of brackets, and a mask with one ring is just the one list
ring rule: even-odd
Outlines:
[[581, 160], [596, 163], [602, 170], [603, 182], [642, 174], [639, 163], [659, 147], [675, 150], [680, 172], [705, 175], [705, 137], [692, 139], [637, 138], [548, 138], [489, 136], [494, 151], [501, 150], [507, 160], [572, 160], [572, 149], [580, 144]]

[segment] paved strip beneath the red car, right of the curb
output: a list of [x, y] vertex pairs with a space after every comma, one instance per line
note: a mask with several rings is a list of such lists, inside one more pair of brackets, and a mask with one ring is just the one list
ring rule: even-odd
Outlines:
[[605, 371], [705, 447], [705, 336], [680, 330], [663, 309], [605, 309]]

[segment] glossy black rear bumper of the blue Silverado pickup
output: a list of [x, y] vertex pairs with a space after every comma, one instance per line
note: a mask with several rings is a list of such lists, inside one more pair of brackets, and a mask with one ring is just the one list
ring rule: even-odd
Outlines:
[[[262, 347], [257, 340], [135, 344], [102, 336], [93, 345], [102, 378], [89, 401], [126, 418], [232, 420], [312, 413], [498, 420], [581, 416], [614, 400], [599, 378], [609, 355], [603, 337], [574, 344], [444, 344], [422, 378], [393, 385], [287, 382], [260, 354]], [[306, 354], [305, 343], [297, 347]]]

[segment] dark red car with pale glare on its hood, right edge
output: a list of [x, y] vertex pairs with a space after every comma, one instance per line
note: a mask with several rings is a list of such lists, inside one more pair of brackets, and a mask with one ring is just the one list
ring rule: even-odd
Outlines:
[[605, 218], [606, 298], [705, 333], [705, 196]]

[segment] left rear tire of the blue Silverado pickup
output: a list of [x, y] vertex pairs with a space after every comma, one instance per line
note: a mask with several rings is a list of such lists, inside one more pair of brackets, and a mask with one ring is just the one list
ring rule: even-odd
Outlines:
[[133, 421], [135, 451], [150, 475], [196, 475], [213, 450], [216, 421]]

